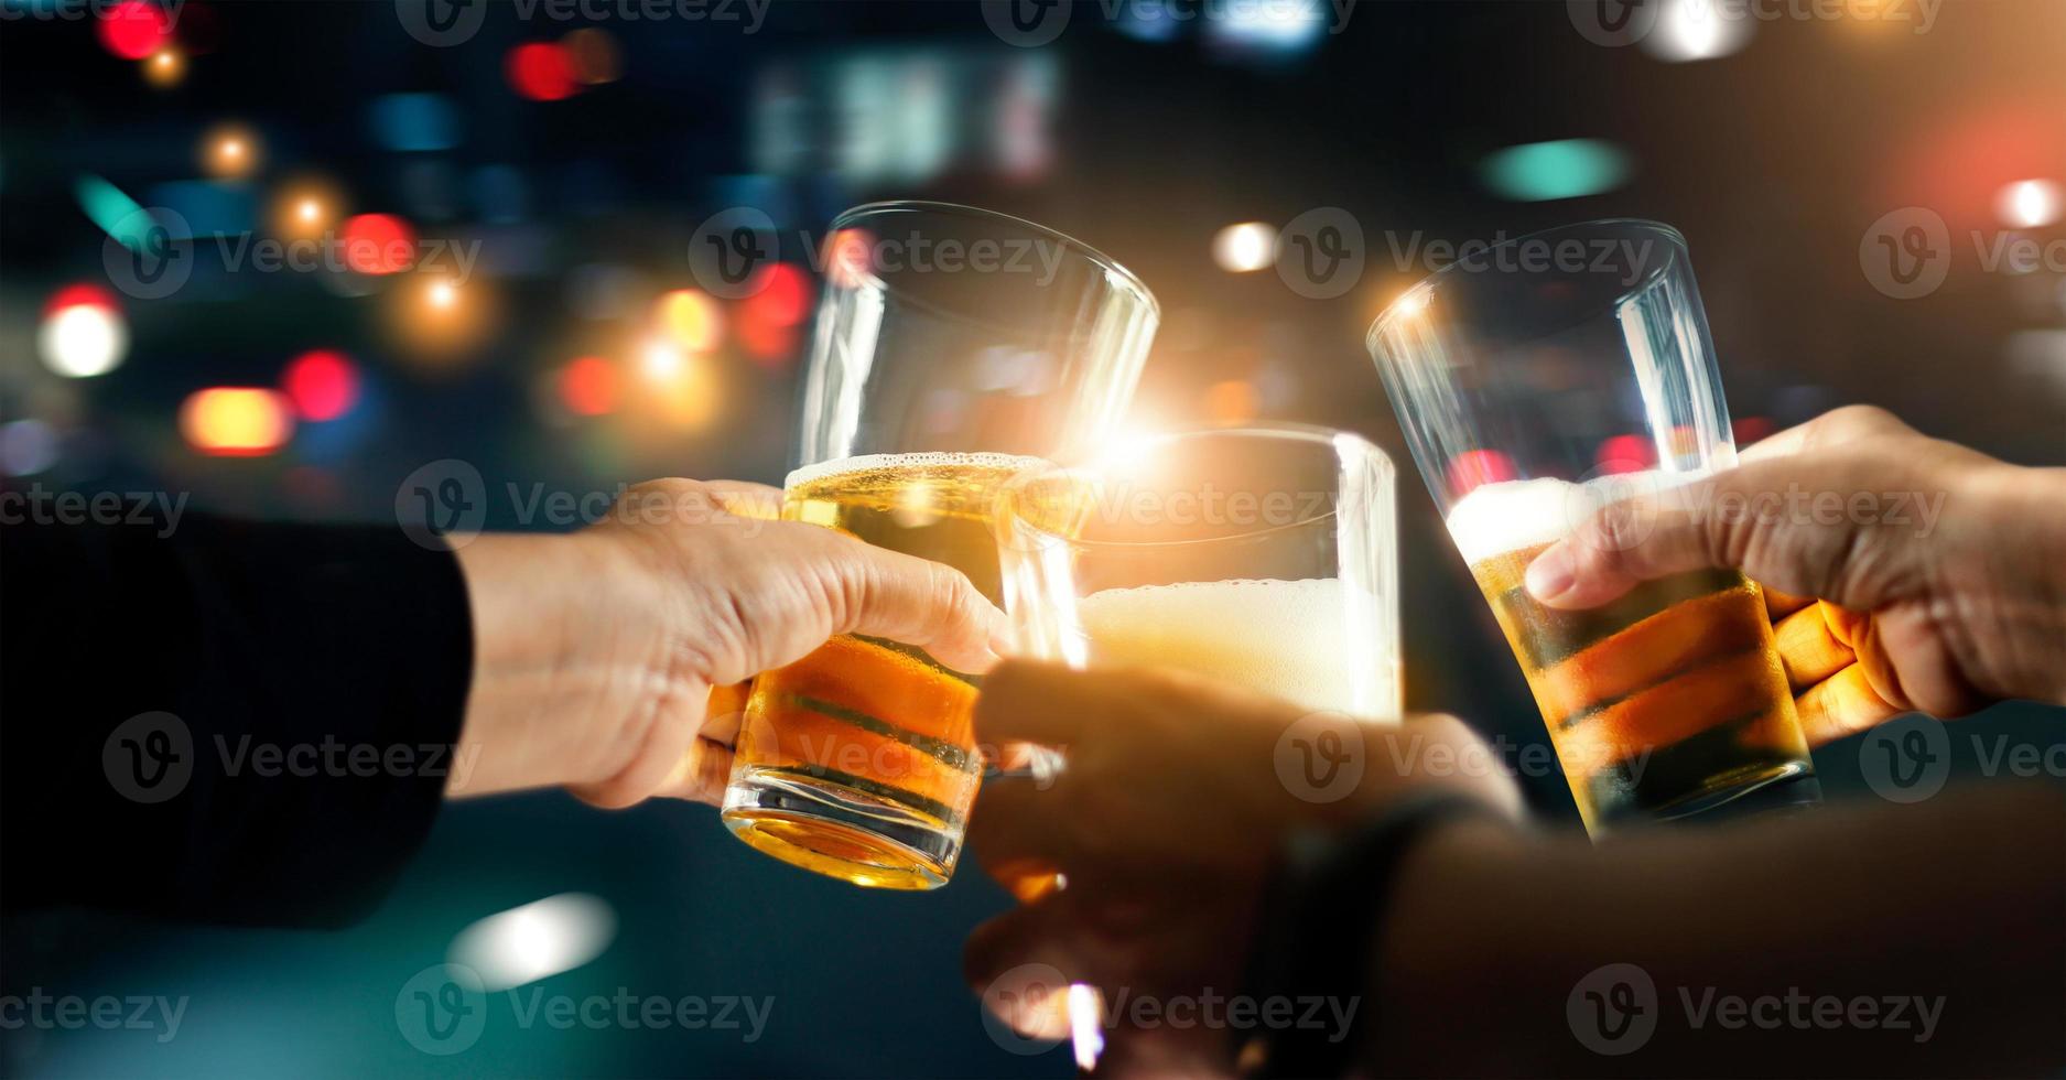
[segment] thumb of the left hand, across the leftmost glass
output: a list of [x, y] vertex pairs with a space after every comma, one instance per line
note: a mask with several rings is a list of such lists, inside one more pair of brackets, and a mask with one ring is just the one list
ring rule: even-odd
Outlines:
[[954, 671], [996, 667], [1004, 611], [952, 566], [853, 541], [835, 560], [839, 595], [833, 634], [915, 644]]

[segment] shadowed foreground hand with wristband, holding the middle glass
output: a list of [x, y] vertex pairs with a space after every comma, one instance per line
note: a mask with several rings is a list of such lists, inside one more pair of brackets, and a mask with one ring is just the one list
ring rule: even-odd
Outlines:
[[[977, 737], [1056, 745], [1068, 766], [1045, 789], [990, 781], [969, 840], [1002, 882], [1060, 871], [1064, 888], [969, 935], [969, 985], [983, 993], [1023, 964], [1052, 966], [1099, 987], [1114, 1012], [1099, 1074], [1225, 1072], [1235, 1033], [1134, 1026], [1134, 1002], [1190, 1008], [1242, 991], [1256, 902], [1289, 832], [1353, 822], [1428, 787], [1521, 812], [1492, 750], [1452, 717], [1335, 717], [1328, 729], [1343, 737], [1345, 760], [1361, 762], [1361, 783], [1347, 791], [1316, 787], [1295, 754], [1281, 756], [1287, 735], [1304, 735], [1291, 731], [1302, 717], [1293, 704], [1178, 673], [998, 667], [975, 702]], [[998, 983], [1008, 995], [985, 993], [1004, 1022], [1068, 1035], [1058, 1002], [1008, 983]]]

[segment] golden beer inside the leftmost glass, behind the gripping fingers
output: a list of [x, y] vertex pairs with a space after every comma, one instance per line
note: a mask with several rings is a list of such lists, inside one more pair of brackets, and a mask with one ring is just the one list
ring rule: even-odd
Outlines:
[[[872, 454], [789, 475], [783, 518], [942, 562], [1000, 603], [998, 487], [1037, 458]], [[764, 671], [746, 704], [723, 820], [779, 859], [880, 888], [934, 888], [981, 781], [977, 677], [859, 634]]]

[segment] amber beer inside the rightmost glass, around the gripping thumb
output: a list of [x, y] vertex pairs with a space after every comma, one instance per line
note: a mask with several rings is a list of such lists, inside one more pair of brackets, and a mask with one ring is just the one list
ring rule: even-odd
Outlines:
[[[1523, 576], [1549, 539], [1483, 553], [1498, 535], [1556, 531], [1543, 489], [1519, 487], [1473, 491], [1450, 531], [1521, 661], [1589, 830], [1692, 814], [1812, 770], [1756, 582], [1694, 570], [1595, 609], [1543, 607]], [[1498, 518], [1485, 514], [1494, 500]]]

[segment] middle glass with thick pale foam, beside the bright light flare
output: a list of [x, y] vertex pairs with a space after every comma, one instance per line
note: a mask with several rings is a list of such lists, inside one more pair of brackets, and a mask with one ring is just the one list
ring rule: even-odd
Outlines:
[[1349, 432], [1142, 436], [998, 500], [1021, 655], [1244, 684], [1397, 721], [1392, 465]]

